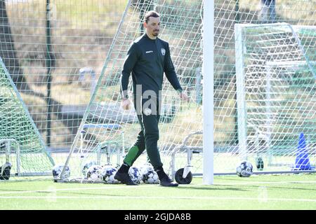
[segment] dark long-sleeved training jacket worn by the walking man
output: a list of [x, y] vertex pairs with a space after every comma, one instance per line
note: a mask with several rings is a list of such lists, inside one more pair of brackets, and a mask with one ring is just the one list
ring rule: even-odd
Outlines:
[[132, 43], [121, 71], [122, 97], [127, 97], [131, 73], [134, 94], [136, 85], [142, 85], [142, 93], [153, 90], [158, 94], [162, 90], [164, 73], [175, 90], [182, 90], [171, 61], [169, 43], [160, 38], [152, 40], [143, 34]]

